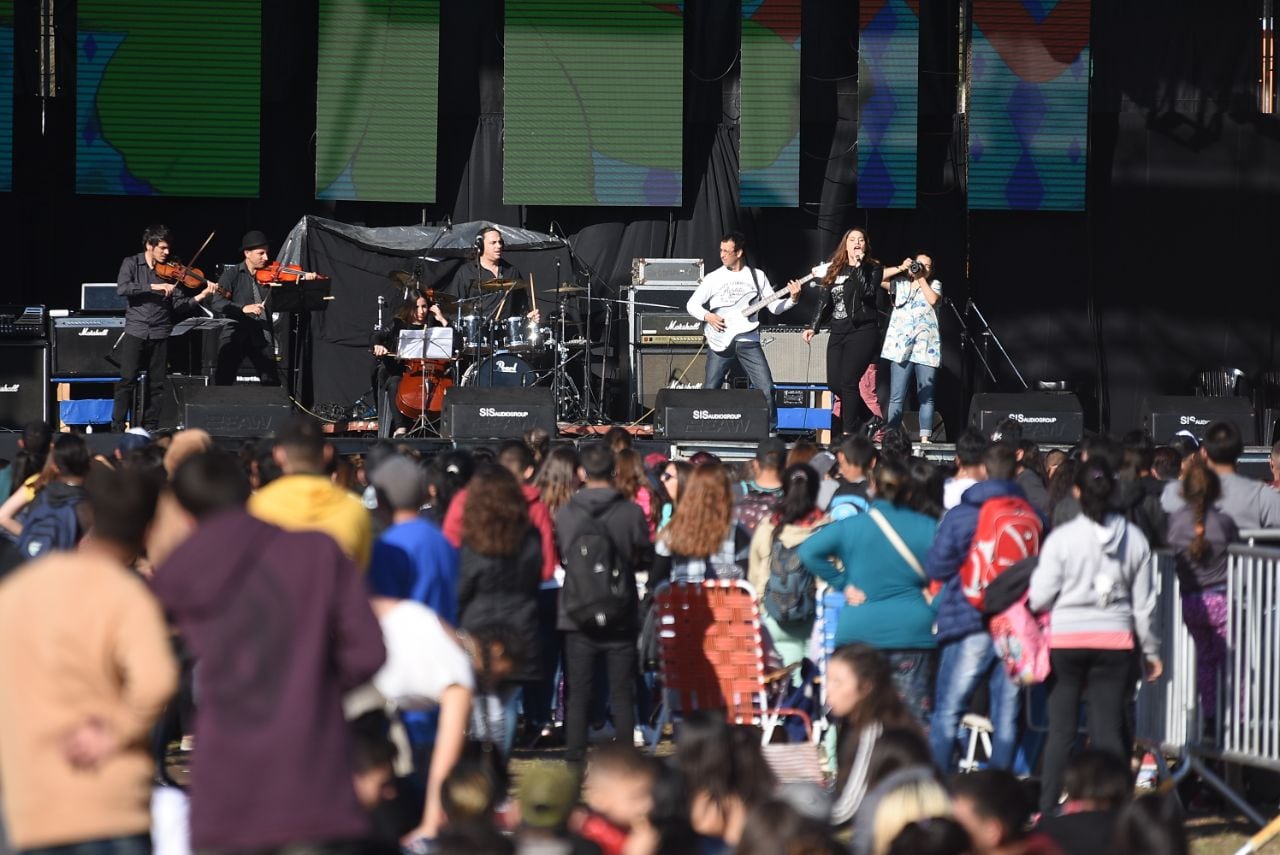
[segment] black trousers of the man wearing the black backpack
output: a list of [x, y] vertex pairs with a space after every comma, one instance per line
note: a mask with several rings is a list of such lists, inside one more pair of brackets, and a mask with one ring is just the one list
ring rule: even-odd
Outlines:
[[595, 659], [603, 655], [609, 672], [609, 707], [617, 739], [631, 741], [636, 727], [636, 639], [600, 640], [585, 632], [564, 634], [564, 759], [586, 756], [588, 707], [595, 690]]

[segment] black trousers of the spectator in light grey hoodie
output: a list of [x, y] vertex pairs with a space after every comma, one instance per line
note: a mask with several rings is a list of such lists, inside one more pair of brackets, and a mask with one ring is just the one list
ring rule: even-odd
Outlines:
[[1062, 774], [1080, 722], [1080, 700], [1088, 705], [1089, 747], [1125, 759], [1133, 750], [1126, 726], [1129, 699], [1138, 680], [1134, 650], [1062, 649], [1050, 653], [1053, 682], [1048, 690], [1048, 740], [1041, 778], [1041, 811], [1053, 815], [1062, 794]]

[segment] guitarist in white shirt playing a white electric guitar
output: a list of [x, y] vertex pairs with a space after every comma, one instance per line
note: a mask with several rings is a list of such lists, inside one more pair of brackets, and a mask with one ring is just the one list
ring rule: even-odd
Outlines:
[[[731, 232], [721, 238], [723, 266], [703, 276], [703, 282], [690, 296], [685, 307], [689, 314], [707, 324], [707, 374], [704, 389], [719, 389], [736, 362], [751, 380], [751, 388], [760, 389], [769, 404], [769, 429], [776, 424], [773, 407], [773, 375], [760, 347], [759, 310], [768, 308], [774, 315], [796, 305], [800, 283], [788, 283], [772, 291], [763, 270], [744, 264], [745, 238]], [[763, 305], [762, 305], [763, 303]]]

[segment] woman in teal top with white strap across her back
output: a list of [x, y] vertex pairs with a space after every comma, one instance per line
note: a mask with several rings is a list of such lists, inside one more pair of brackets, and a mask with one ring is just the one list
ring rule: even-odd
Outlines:
[[928, 721], [937, 645], [922, 564], [938, 522], [908, 506], [911, 480], [902, 466], [882, 462], [873, 477], [870, 509], [814, 532], [800, 544], [800, 561], [845, 591], [836, 645], [863, 643], [883, 653], [908, 708]]

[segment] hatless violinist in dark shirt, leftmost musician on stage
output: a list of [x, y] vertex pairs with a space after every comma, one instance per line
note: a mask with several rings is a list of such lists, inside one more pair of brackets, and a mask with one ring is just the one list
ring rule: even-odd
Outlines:
[[116, 346], [120, 379], [115, 384], [111, 404], [111, 430], [116, 433], [124, 430], [138, 374], [143, 367], [147, 383], [142, 417], [140, 420], [138, 413], [134, 413], [133, 424], [147, 430], [160, 426], [160, 399], [168, 388], [169, 334], [175, 321], [196, 314], [197, 303], [214, 296], [212, 284], [192, 293], [173, 283], [161, 282], [155, 268], [168, 259], [169, 229], [164, 225], [148, 225], [142, 232], [142, 252], [124, 259], [115, 278], [115, 293], [128, 302], [124, 310], [124, 335]]

